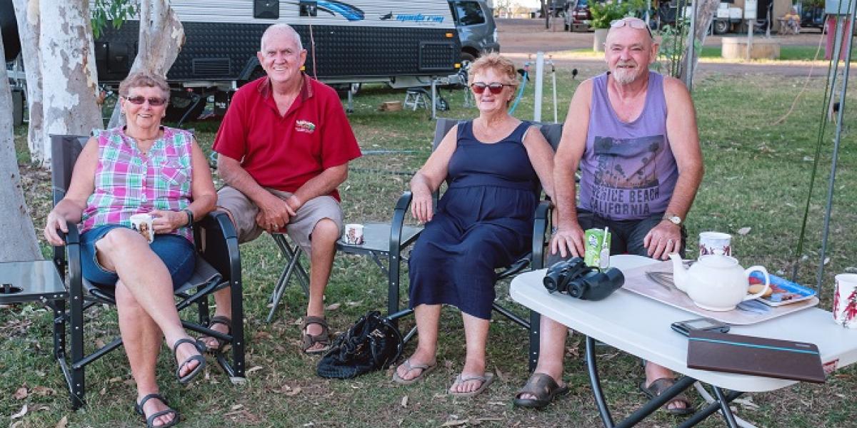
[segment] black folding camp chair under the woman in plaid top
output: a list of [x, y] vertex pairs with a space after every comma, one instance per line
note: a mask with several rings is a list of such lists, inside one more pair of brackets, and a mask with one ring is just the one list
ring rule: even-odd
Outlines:
[[[51, 135], [51, 184], [54, 205], [63, 199], [71, 182], [71, 172], [88, 137], [77, 135]], [[244, 377], [244, 328], [241, 283], [241, 259], [238, 256], [238, 240], [229, 217], [222, 212], [213, 212], [194, 226], [197, 248], [196, 270], [189, 282], [178, 288], [177, 309], [181, 312], [191, 305], [199, 311], [198, 323], [182, 320], [185, 329], [218, 337], [231, 344], [231, 362], [228, 354], [220, 352], [218, 363], [230, 377]], [[83, 313], [99, 304], [116, 305], [111, 288], [95, 287], [81, 276], [80, 236], [75, 224], [69, 224], [65, 235], [66, 245], [54, 247], [53, 261], [69, 288], [69, 310], [65, 302], [53, 307], [54, 323], [59, 326], [54, 333], [54, 348], [69, 387], [72, 408], [85, 404], [85, 367], [113, 349], [122, 345], [118, 338], [84, 354], [83, 332], [87, 325]], [[208, 294], [221, 288], [231, 288], [232, 334], [225, 335], [207, 328], [209, 322]], [[84, 293], [86, 290], [86, 293]], [[70, 358], [66, 354], [66, 326], [70, 330]], [[221, 348], [223, 349], [223, 348]]]

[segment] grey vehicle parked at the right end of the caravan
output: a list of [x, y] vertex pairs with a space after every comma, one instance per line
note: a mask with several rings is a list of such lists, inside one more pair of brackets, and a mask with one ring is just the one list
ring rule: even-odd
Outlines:
[[497, 25], [485, 0], [448, 0], [461, 42], [461, 62], [473, 62], [482, 54], [499, 52]]

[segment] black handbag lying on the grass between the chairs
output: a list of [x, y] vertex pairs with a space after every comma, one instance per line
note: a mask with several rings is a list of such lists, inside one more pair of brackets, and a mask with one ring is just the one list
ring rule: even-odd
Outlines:
[[383, 369], [402, 354], [402, 335], [393, 322], [381, 318], [381, 312], [363, 315], [348, 331], [336, 338], [319, 361], [321, 377], [351, 379], [363, 373]]

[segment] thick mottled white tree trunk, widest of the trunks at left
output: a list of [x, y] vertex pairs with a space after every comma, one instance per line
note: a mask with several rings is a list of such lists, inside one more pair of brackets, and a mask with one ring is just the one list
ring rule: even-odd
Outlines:
[[[41, 52], [43, 148], [51, 163], [51, 134], [87, 135], [103, 128], [96, 103], [98, 75], [87, 0], [29, 0], [39, 3], [39, 45], [23, 46], [25, 56]], [[32, 7], [32, 6], [29, 6]], [[31, 71], [27, 69], [27, 80]]]

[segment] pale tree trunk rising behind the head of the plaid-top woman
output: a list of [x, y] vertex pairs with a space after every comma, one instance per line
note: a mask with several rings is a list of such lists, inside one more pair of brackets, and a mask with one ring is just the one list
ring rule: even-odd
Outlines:
[[[184, 45], [184, 27], [169, 0], [141, 0], [139, 43], [131, 73], [146, 71], [165, 76]], [[125, 124], [118, 107], [117, 103], [108, 128]]]

